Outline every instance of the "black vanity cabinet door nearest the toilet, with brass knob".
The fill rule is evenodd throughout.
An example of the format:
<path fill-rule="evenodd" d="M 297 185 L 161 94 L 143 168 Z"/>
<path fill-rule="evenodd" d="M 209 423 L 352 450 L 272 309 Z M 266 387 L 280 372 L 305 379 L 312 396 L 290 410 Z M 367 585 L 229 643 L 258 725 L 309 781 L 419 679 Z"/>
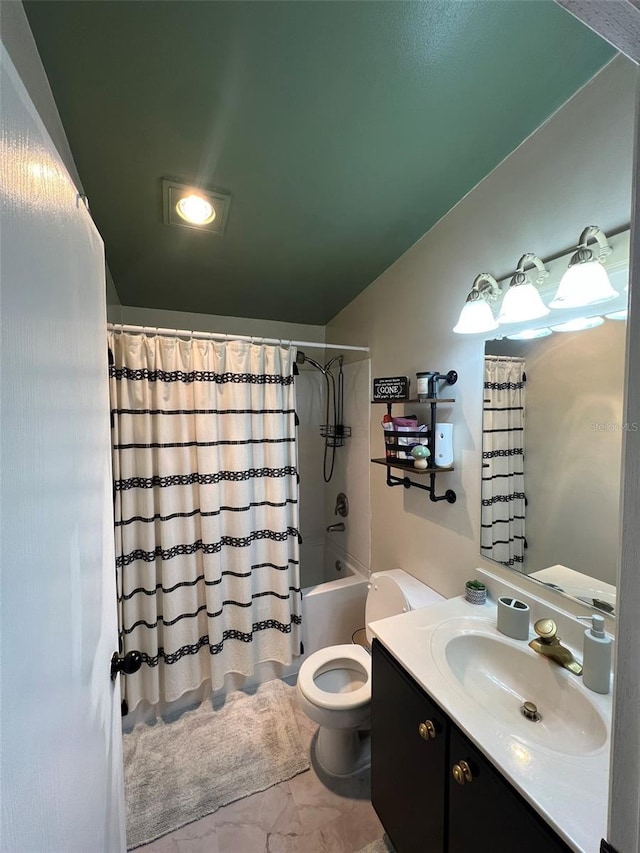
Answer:
<path fill-rule="evenodd" d="M 447 718 L 376 640 L 372 678 L 373 806 L 397 853 L 443 853 Z"/>

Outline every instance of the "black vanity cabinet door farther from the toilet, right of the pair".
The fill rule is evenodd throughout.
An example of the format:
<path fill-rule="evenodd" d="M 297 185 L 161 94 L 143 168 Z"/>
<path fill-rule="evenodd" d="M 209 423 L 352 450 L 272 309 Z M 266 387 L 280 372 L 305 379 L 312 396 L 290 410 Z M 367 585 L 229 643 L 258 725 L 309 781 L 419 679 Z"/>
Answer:
<path fill-rule="evenodd" d="M 570 848 L 453 725 L 449 753 L 448 853 L 566 853 Z M 471 781 L 458 784 L 454 765 L 466 761 Z M 464 778 L 464 777 L 463 777 Z"/>

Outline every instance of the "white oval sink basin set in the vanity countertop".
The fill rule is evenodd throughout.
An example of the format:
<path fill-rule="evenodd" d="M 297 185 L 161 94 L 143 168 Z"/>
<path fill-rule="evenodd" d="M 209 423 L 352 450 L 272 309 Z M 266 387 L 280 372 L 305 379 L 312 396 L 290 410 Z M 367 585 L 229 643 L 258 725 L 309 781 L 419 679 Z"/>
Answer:
<path fill-rule="evenodd" d="M 433 634 L 438 669 L 452 686 L 498 719 L 505 732 L 568 755 L 604 746 L 607 726 L 582 679 L 526 643 L 502 639 L 492 627 L 469 627 L 468 620 L 453 623 L 444 623 Z M 524 702 L 537 706 L 537 722 L 522 713 Z"/>

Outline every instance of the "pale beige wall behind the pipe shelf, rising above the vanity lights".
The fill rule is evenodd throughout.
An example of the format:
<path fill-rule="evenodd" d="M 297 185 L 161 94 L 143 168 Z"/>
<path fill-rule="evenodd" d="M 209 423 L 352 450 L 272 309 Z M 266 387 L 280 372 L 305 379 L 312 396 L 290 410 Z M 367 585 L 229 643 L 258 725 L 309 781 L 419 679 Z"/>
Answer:
<path fill-rule="evenodd" d="M 445 418 L 454 424 L 456 471 L 438 477 L 457 503 L 389 489 L 384 469 L 372 466 L 373 570 L 400 565 L 450 596 L 483 564 L 483 341 L 451 329 L 478 273 L 500 279 L 524 252 L 561 253 L 586 225 L 629 222 L 636 74 L 615 59 L 327 327 L 328 341 L 370 346 L 372 376 L 415 382 L 418 370 L 455 369 L 460 377 Z M 374 418 L 373 456 L 382 455 L 380 433 Z"/>

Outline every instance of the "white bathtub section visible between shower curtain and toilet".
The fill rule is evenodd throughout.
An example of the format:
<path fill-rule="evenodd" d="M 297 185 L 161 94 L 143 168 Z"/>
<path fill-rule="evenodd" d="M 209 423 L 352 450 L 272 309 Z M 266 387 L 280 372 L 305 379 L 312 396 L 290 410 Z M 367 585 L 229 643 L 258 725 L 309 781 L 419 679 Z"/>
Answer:
<path fill-rule="evenodd" d="M 369 572 L 333 542 L 324 546 L 320 583 L 302 590 L 302 642 L 305 656 L 339 643 L 350 643 L 364 628 Z"/>

